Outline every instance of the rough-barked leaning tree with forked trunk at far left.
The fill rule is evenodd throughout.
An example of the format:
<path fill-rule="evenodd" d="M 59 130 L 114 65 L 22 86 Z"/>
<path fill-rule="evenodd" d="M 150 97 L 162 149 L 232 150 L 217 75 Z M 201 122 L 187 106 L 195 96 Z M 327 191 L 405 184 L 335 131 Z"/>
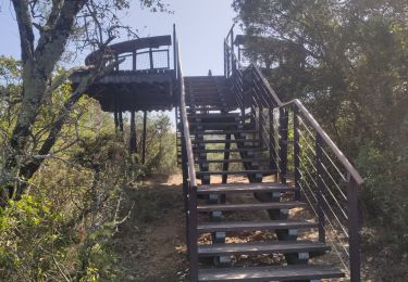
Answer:
<path fill-rule="evenodd" d="M 139 0 L 141 7 L 164 10 L 160 0 Z M 88 48 L 106 50 L 123 30 L 118 13 L 128 9 L 129 0 L 13 0 L 21 41 L 22 82 L 16 120 L 8 132 L 2 161 L 1 198 L 18 198 L 27 181 L 49 155 L 59 133 L 84 90 L 112 65 L 97 60 L 90 67 L 74 67 L 55 73 L 59 62 L 70 51 Z M 70 47 L 70 48 L 69 48 Z M 101 56 L 102 56 L 101 52 Z M 52 107 L 51 98 L 77 72 L 86 72 L 82 81 L 64 100 L 52 123 L 39 130 L 36 125 L 45 108 Z"/>

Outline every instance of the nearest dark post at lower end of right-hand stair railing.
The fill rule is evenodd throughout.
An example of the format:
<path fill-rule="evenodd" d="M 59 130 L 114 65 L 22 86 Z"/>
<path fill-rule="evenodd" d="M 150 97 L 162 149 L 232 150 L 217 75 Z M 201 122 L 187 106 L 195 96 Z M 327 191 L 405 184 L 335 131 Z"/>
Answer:
<path fill-rule="evenodd" d="M 350 281 L 359 282 L 360 278 L 360 233 L 358 223 L 358 208 L 357 208 L 357 190 L 358 184 L 356 180 L 348 175 L 347 185 L 347 210 L 348 210 L 348 244 L 350 254 Z"/>

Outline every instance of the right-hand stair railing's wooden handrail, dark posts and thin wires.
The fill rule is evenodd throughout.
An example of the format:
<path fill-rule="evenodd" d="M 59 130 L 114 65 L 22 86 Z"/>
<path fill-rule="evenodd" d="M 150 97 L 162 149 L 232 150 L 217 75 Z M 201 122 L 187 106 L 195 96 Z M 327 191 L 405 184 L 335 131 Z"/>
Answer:
<path fill-rule="evenodd" d="M 274 153 L 276 154 L 276 157 L 279 157 L 279 163 L 276 162 L 276 166 L 279 167 L 279 174 L 280 174 L 280 180 L 282 183 L 286 182 L 287 177 L 287 144 L 288 144 L 288 121 L 289 121 L 289 113 L 293 112 L 293 145 L 294 145 L 294 172 L 295 172 L 295 185 L 300 185 L 301 171 L 300 171 L 300 165 L 302 163 L 301 155 L 300 155 L 300 130 L 299 130 L 299 120 L 304 125 L 308 125 L 310 127 L 310 130 L 313 131 L 311 133 L 314 136 L 314 142 L 316 142 L 316 175 L 310 176 L 310 180 L 313 181 L 316 191 L 311 191 L 311 195 L 316 198 L 316 209 L 313 207 L 313 204 L 308 200 L 311 208 L 316 211 L 318 218 L 319 218 L 319 241 L 325 242 L 325 219 L 329 219 L 329 216 L 324 211 L 324 206 L 329 206 L 330 211 L 334 215 L 335 219 L 338 219 L 336 216 L 336 213 L 333 210 L 333 208 L 330 206 L 330 203 L 325 195 L 323 194 L 323 190 L 327 188 L 329 192 L 331 193 L 330 196 L 335 200 L 335 202 L 338 204 L 337 200 L 333 195 L 332 191 L 329 189 L 323 174 L 325 170 L 325 166 L 323 164 L 323 154 L 327 156 L 327 153 L 323 149 L 323 145 L 326 146 L 330 152 L 330 154 L 333 154 L 335 158 L 337 159 L 338 164 L 341 164 L 342 170 L 344 169 L 347 176 L 345 177 L 339 168 L 335 166 L 336 171 L 339 172 L 341 178 L 347 179 L 347 192 L 346 192 L 346 205 L 347 207 L 344 208 L 338 204 L 338 207 L 341 208 L 341 211 L 344 214 L 344 210 L 347 210 L 347 225 L 348 230 L 341 223 L 343 233 L 348 239 L 348 246 L 349 252 L 346 249 L 346 254 L 348 256 L 349 260 L 349 273 L 350 273 L 350 280 L 351 281 L 360 281 L 360 243 L 359 243 L 359 222 L 358 222 L 358 188 L 363 183 L 362 177 L 359 175 L 359 172 L 356 170 L 356 168 L 350 164 L 350 162 L 347 159 L 347 157 L 344 155 L 344 153 L 337 148 L 337 145 L 332 141 L 332 139 L 329 137 L 329 134 L 322 129 L 322 127 L 319 125 L 319 123 L 314 119 L 314 117 L 310 114 L 310 112 L 305 107 L 305 105 L 298 100 L 294 99 L 289 102 L 283 103 L 280 98 L 276 95 L 276 93 L 273 91 L 272 87 L 269 85 L 268 80 L 259 69 L 259 67 L 254 63 L 250 62 L 249 66 L 245 69 L 242 68 L 239 65 L 239 62 L 236 60 L 236 56 L 234 54 L 234 47 L 233 47 L 233 35 L 234 31 L 230 30 L 228 36 L 226 40 L 224 41 L 224 54 L 227 56 L 224 59 L 224 65 L 226 66 L 225 75 L 226 77 L 231 77 L 232 79 L 235 79 L 237 76 L 237 70 L 245 73 L 246 77 L 250 77 L 250 80 L 247 80 L 247 89 L 248 94 L 251 95 L 250 104 L 245 104 L 244 107 L 251 108 L 251 115 L 252 118 L 256 120 L 257 126 L 258 123 L 260 126 L 262 126 L 261 116 L 259 116 L 259 120 L 257 120 L 256 116 L 256 108 L 269 108 L 269 114 L 273 113 L 274 110 L 279 110 L 279 134 L 275 141 L 277 141 L 279 145 L 279 152 L 274 150 Z M 230 38 L 228 38 L 230 37 Z M 230 39 L 230 40 L 228 40 Z M 228 41 L 231 41 L 231 46 L 228 46 Z M 247 92 L 245 92 L 247 93 Z M 238 97 L 239 99 L 245 99 L 243 97 Z M 244 110 L 245 111 L 245 110 Z M 252 113 L 254 112 L 254 113 Z M 301 116 L 301 119 L 300 119 Z M 262 117 L 263 118 L 263 117 Z M 270 117 L 271 118 L 271 117 Z M 307 129 L 309 131 L 309 129 Z M 260 129 L 260 132 L 262 131 L 262 128 Z M 264 130 L 263 130 L 264 131 Z M 262 134 L 264 132 L 261 132 Z M 270 137 L 271 138 L 271 137 Z M 271 150 L 271 148 L 270 148 Z M 329 156 L 327 156 L 329 157 Z M 308 156 L 306 158 L 310 162 L 310 164 L 313 164 L 313 161 L 311 161 Z M 275 158 L 276 159 L 276 158 Z M 334 164 L 333 159 L 329 157 L 330 162 Z M 306 171 L 308 172 L 308 171 Z M 332 181 L 335 182 L 333 177 L 327 171 L 329 176 L 332 178 Z M 316 179 L 314 179 L 316 178 Z M 307 184 L 307 182 L 305 182 Z M 335 183 L 336 184 L 336 183 Z M 337 185 L 337 184 L 336 184 Z M 338 188 L 338 185 L 337 185 Z M 301 188 L 302 189 L 302 188 Z M 304 190 L 304 189 L 302 189 Z M 342 195 L 345 194 L 342 192 Z M 300 193 L 295 194 L 296 198 L 300 198 Z M 327 222 L 332 226 L 332 222 L 327 220 Z M 333 227 L 332 227 L 333 228 Z M 343 260 L 342 260 L 343 262 Z"/>

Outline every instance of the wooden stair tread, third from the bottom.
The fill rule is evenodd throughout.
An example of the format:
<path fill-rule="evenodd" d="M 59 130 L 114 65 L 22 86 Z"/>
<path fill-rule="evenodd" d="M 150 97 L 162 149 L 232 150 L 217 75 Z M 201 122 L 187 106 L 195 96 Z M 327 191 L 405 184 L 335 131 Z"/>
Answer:
<path fill-rule="evenodd" d="M 200 233 L 226 231 L 261 231 L 318 228 L 319 223 L 296 220 L 205 222 L 197 226 Z"/>

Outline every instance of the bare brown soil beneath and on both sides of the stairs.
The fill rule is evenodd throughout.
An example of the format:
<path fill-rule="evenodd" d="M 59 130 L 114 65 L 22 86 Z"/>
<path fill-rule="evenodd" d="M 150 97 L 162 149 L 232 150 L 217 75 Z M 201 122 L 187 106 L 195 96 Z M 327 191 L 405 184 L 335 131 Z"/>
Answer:
<path fill-rule="evenodd" d="M 221 178 L 213 178 L 211 182 L 221 182 Z M 247 182 L 247 180 L 244 177 L 234 177 L 231 182 Z M 228 202 L 233 203 L 254 201 L 251 194 L 228 197 Z M 151 180 L 139 183 L 137 188 L 127 188 L 124 213 L 131 208 L 131 218 L 120 227 L 112 243 L 119 256 L 119 281 L 187 281 L 188 265 L 184 244 L 185 220 L 181 175 L 153 176 Z M 238 216 L 225 214 L 225 217 L 234 220 L 267 220 L 269 218 L 264 211 L 243 213 Z M 290 217 L 312 218 L 310 213 L 305 213 L 301 208 L 293 209 Z M 306 240 L 314 240 L 317 236 L 317 232 L 299 234 L 299 238 Z M 274 238 L 273 232 L 246 232 L 230 234 L 227 242 L 265 241 Z M 362 281 L 408 281 L 407 255 L 396 258 L 392 248 L 364 243 L 364 239 L 366 235 L 362 236 Z M 210 243 L 210 236 L 201 235 L 199 241 Z M 233 258 L 232 265 L 270 265 L 283 261 L 282 255 L 240 256 Z M 313 258 L 311 262 L 344 268 L 335 252 Z M 202 264 L 205 267 L 211 266 L 211 261 Z"/>

